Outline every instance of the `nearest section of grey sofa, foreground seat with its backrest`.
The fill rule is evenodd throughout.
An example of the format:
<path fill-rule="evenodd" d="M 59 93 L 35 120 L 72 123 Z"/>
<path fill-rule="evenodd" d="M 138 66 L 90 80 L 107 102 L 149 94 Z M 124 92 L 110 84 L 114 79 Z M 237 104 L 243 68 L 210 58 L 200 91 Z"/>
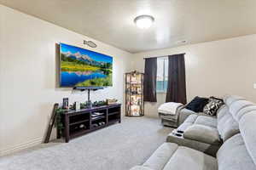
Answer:
<path fill-rule="evenodd" d="M 164 143 L 142 166 L 131 170 L 255 170 L 256 111 L 243 111 L 236 133 L 218 150 L 216 157 L 173 143 Z"/>

